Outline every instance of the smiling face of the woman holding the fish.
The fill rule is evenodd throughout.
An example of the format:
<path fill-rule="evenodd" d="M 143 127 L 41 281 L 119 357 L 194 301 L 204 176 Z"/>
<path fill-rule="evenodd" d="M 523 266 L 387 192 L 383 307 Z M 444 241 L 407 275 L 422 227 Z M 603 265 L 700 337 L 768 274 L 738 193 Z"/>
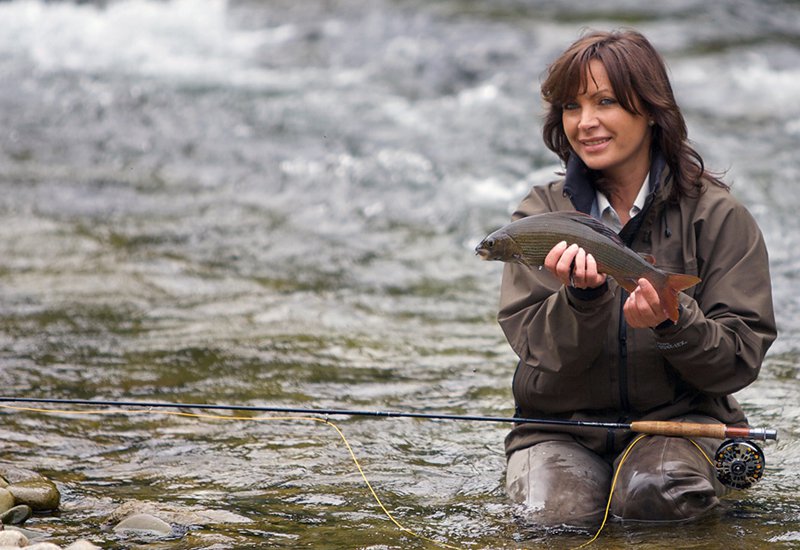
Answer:
<path fill-rule="evenodd" d="M 573 151 L 612 183 L 644 178 L 650 169 L 652 139 L 648 117 L 620 106 L 600 61 L 589 62 L 585 77 L 586 90 L 565 104 L 561 115 Z"/>

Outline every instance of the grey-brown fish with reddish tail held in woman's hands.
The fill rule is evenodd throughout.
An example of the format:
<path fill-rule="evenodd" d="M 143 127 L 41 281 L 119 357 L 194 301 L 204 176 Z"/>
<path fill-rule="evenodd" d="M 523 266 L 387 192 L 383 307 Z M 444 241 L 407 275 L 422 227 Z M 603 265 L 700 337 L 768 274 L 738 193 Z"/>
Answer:
<path fill-rule="evenodd" d="M 539 268 L 561 241 L 586 250 L 597 261 L 597 270 L 628 292 L 636 289 L 639 279 L 650 281 L 672 322 L 678 320 L 678 293 L 701 281 L 694 275 L 659 269 L 655 258 L 632 250 L 600 220 L 577 211 L 546 212 L 513 221 L 489 234 L 475 252 L 483 260 Z"/>

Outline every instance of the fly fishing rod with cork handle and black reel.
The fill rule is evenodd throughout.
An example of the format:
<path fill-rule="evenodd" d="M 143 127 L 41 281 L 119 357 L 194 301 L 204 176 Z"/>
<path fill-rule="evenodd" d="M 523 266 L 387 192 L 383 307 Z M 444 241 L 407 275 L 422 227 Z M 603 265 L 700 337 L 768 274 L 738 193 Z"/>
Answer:
<path fill-rule="evenodd" d="M 216 403 L 176 403 L 169 401 L 121 401 L 100 399 L 55 399 L 35 397 L 3 397 L 0 402 L 40 403 L 50 405 L 86 405 L 108 407 L 144 407 L 150 409 L 205 409 L 258 413 L 291 413 L 316 416 L 367 416 L 379 418 L 418 418 L 425 420 L 451 420 L 468 422 L 496 422 L 514 424 L 536 424 L 573 428 L 599 428 L 628 430 L 645 435 L 671 437 L 708 437 L 725 440 L 715 453 L 717 477 L 722 483 L 736 489 L 746 489 L 761 479 L 764 473 L 764 453 L 748 440 L 777 440 L 778 432 L 769 428 L 728 426 L 722 423 L 702 424 L 695 422 L 673 422 L 666 420 L 639 420 L 634 422 L 600 422 L 593 420 L 565 420 L 551 418 L 518 418 L 502 416 L 459 415 L 418 413 L 402 411 L 374 411 L 357 409 L 324 409 L 304 407 L 271 407 L 256 405 L 223 405 Z"/>

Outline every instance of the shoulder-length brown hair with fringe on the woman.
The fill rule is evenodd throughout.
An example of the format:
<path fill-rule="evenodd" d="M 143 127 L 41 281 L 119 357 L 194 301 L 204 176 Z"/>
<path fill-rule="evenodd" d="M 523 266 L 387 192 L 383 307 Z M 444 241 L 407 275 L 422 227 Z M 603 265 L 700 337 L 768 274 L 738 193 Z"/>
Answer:
<path fill-rule="evenodd" d="M 701 193 L 703 177 L 728 187 L 705 170 L 702 157 L 689 145 L 666 64 L 647 38 L 633 30 L 586 34 L 550 65 L 542 84 L 548 104 L 542 135 L 548 149 L 566 164 L 572 148 L 564 133 L 563 106 L 585 89 L 589 62 L 595 59 L 605 67 L 620 106 L 653 119 L 653 144 L 664 155 L 675 183 L 670 198 Z"/>

